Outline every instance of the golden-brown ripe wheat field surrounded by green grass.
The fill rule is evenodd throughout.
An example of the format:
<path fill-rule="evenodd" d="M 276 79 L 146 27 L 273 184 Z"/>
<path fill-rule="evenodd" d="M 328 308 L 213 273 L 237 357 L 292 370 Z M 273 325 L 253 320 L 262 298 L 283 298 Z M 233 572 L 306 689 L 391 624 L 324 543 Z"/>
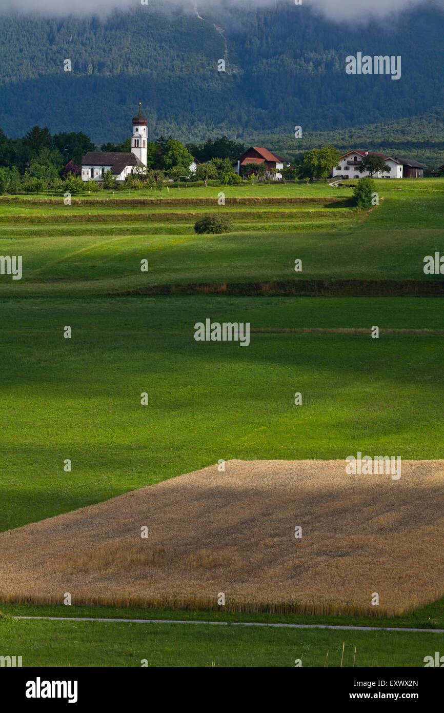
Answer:
<path fill-rule="evenodd" d="M 345 466 L 232 460 L 1 533 L 0 598 L 379 616 L 442 596 L 444 461 Z"/>

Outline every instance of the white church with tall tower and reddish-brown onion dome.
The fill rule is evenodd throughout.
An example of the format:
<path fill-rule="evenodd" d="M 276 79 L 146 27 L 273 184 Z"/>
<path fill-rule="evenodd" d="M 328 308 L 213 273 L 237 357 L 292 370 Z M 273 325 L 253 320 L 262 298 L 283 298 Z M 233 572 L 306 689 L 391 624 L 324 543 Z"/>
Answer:
<path fill-rule="evenodd" d="M 82 158 L 82 180 L 103 180 L 110 171 L 116 180 L 125 180 L 130 173 L 145 173 L 147 167 L 148 127 L 139 102 L 138 116 L 133 118 L 131 152 L 89 151 Z"/>

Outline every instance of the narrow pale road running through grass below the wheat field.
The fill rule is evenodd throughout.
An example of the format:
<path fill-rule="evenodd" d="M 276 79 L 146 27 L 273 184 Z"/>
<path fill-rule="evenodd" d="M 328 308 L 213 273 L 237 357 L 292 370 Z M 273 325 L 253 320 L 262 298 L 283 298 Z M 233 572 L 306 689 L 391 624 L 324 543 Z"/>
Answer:
<path fill-rule="evenodd" d="M 330 624 L 273 624 L 266 622 L 205 622 L 180 619 L 111 619 L 110 617 L 12 617 L 51 622 L 118 622 L 125 624 L 214 624 L 215 626 L 267 626 L 286 629 L 334 629 L 340 631 L 406 631 L 423 634 L 444 634 L 444 629 L 408 629 L 403 627 L 336 626 Z"/>

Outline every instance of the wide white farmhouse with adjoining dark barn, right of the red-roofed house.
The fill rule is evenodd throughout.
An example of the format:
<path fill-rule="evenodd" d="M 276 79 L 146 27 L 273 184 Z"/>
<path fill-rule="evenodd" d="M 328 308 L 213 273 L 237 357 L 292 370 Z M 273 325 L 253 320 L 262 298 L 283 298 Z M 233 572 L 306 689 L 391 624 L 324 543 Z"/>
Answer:
<path fill-rule="evenodd" d="M 361 161 L 368 155 L 379 156 L 390 167 L 390 170 L 378 171 L 373 178 L 423 178 L 424 168 L 421 163 L 407 158 L 394 158 L 383 153 L 373 151 L 353 150 L 345 153 L 339 159 L 338 165 L 333 169 L 333 178 L 365 178 L 368 171 L 360 172 Z"/>

